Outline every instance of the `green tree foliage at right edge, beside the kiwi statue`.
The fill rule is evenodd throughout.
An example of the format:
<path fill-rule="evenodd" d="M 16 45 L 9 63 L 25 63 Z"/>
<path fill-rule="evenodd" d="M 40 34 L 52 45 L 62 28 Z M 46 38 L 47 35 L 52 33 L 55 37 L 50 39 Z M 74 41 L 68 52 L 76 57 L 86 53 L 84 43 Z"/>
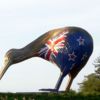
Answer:
<path fill-rule="evenodd" d="M 100 93 L 100 57 L 95 60 L 95 72 L 85 76 L 82 83 L 79 83 L 79 91 L 82 93 Z"/>

